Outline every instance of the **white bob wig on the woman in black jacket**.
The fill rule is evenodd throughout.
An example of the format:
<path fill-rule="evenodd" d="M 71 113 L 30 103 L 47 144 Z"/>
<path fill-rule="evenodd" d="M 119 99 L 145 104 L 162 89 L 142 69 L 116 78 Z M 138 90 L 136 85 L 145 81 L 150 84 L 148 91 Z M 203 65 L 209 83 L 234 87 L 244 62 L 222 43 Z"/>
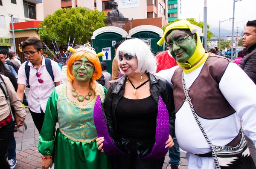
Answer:
<path fill-rule="evenodd" d="M 155 73 L 157 70 L 157 61 L 151 49 L 146 43 L 138 38 L 132 38 L 125 40 L 116 50 L 117 60 L 119 62 L 119 52 L 123 54 L 129 54 L 136 57 L 138 60 L 138 69 L 135 73 Z M 125 74 L 122 69 L 120 69 L 122 74 Z"/>

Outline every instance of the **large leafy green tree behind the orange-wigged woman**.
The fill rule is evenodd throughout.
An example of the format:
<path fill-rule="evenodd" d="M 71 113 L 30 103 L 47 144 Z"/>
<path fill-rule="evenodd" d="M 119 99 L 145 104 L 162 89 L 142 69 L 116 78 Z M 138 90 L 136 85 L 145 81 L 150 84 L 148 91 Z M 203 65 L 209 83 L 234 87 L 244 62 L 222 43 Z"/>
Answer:
<path fill-rule="evenodd" d="M 96 29 L 106 26 L 105 18 L 107 18 L 107 15 L 104 11 L 87 11 L 81 7 L 58 9 L 54 14 L 44 18 L 44 22 L 40 23 L 39 26 L 42 29 L 39 34 L 43 31 L 50 34 L 55 33 L 59 36 L 62 45 L 67 45 L 69 35 L 71 40 L 76 38 L 76 44 L 84 44 L 91 41 Z M 70 41 L 70 43 L 72 42 Z"/>

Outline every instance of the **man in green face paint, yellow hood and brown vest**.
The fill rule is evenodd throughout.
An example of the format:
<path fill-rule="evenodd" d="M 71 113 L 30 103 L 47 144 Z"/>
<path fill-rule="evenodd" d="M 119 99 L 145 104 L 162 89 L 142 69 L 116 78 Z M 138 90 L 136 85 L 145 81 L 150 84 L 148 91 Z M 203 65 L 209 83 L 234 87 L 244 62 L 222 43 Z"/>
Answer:
<path fill-rule="evenodd" d="M 158 45 L 162 46 L 163 41 L 179 66 L 157 75 L 173 85 L 175 135 L 186 151 L 188 168 L 215 169 L 219 165 L 221 169 L 256 169 L 239 124 L 239 118 L 244 120 L 244 132 L 255 145 L 253 81 L 236 63 L 205 52 L 197 30 L 187 20 L 167 26 Z M 236 146 L 238 152 L 230 148 Z M 216 149 L 223 151 L 218 151 L 222 154 L 217 155 L 218 159 Z"/>

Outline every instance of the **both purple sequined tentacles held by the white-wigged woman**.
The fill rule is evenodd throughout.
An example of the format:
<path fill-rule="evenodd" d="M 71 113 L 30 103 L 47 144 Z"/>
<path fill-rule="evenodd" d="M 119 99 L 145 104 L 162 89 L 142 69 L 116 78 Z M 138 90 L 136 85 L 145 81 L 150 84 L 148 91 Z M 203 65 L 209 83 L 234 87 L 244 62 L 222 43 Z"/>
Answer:
<path fill-rule="evenodd" d="M 103 149 L 106 155 L 126 155 L 120 151 L 111 139 L 108 128 L 105 122 L 105 118 L 102 113 L 102 106 L 100 97 L 97 97 L 94 111 L 94 124 L 98 133 L 98 137 L 104 137 Z M 159 97 L 158 101 L 158 114 L 157 114 L 157 128 L 155 135 L 154 147 L 150 155 L 141 159 L 162 159 L 168 152 L 168 148 L 165 148 L 166 141 L 169 138 L 169 113 L 162 98 Z"/>

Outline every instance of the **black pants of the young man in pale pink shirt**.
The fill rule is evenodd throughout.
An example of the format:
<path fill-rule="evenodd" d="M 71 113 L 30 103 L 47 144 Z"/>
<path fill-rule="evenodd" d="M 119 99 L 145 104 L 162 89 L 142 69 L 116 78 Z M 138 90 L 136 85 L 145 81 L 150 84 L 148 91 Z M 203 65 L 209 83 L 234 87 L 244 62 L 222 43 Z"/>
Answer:
<path fill-rule="evenodd" d="M 41 111 L 41 113 L 35 113 L 35 112 L 32 112 L 30 109 L 29 109 L 29 112 L 32 116 L 32 119 L 35 123 L 35 127 L 38 129 L 38 132 L 40 134 L 42 128 L 43 128 L 43 123 L 44 123 L 44 112 L 43 110 Z M 54 135 L 55 137 L 55 135 Z M 52 152 L 52 162 L 54 163 L 54 152 L 55 152 L 55 146 L 53 148 L 53 152 Z"/>

